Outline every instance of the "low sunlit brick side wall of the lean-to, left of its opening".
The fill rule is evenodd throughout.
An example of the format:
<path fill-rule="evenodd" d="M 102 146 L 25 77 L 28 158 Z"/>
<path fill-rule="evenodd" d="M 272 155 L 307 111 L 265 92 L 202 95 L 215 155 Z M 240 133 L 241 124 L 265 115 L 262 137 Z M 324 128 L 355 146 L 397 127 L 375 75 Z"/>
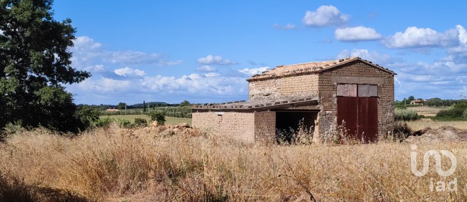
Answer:
<path fill-rule="evenodd" d="M 212 130 L 244 143 L 254 142 L 253 112 L 193 111 L 192 117 L 195 128 Z"/>

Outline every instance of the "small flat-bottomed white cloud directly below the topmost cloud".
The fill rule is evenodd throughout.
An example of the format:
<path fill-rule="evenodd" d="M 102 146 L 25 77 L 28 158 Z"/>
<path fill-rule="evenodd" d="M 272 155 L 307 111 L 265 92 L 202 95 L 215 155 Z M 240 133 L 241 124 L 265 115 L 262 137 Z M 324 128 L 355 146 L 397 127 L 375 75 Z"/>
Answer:
<path fill-rule="evenodd" d="M 334 36 L 340 41 L 377 40 L 381 38 L 381 35 L 375 29 L 363 26 L 338 28 L 334 32 Z"/>

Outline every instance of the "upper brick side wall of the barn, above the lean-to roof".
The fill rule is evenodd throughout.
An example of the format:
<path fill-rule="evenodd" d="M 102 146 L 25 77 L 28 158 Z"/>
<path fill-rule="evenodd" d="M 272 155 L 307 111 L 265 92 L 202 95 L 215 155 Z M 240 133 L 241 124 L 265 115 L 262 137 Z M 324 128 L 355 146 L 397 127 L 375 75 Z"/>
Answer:
<path fill-rule="evenodd" d="M 318 74 L 305 74 L 249 82 L 248 99 L 275 99 L 317 94 Z"/>

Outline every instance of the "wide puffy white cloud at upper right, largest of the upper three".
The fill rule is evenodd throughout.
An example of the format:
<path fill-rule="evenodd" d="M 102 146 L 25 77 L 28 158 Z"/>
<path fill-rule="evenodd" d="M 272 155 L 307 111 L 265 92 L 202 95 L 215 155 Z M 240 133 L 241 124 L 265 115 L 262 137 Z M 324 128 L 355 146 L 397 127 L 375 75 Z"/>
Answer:
<path fill-rule="evenodd" d="M 408 27 L 403 33 L 396 32 L 383 40 L 387 48 L 419 48 L 453 46 L 457 43 L 458 31 L 449 29 L 438 33 L 430 28 Z"/>

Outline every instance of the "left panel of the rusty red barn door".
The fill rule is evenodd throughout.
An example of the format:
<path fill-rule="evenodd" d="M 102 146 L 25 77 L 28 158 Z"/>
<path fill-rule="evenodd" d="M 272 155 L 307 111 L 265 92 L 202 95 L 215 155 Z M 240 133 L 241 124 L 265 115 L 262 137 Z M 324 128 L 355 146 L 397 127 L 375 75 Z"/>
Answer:
<path fill-rule="evenodd" d="M 339 126 L 345 122 L 345 129 L 350 137 L 358 134 L 358 98 L 359 97 L 337 97 L 337 123 Z"/>

